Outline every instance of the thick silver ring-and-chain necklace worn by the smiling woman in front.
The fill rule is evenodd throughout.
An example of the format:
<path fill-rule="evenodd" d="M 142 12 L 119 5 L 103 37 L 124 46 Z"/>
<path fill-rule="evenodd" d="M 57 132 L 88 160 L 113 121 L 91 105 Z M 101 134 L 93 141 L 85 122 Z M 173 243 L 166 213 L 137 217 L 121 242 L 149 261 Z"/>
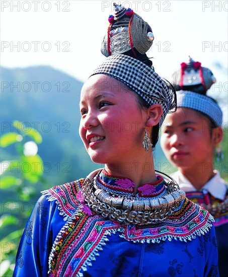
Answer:
<path fill-rule="evenodd" d="M 161 173 L 161 172 L 159 172 Z M 99 188 L 96 176 L 87 178 L 82 191 L 90 209 L 104 218 L 122 224 L 153 224 L 171 216 L 186 194 L 174 180 L 166 183 L 167 192 L 162 197 L 111 196 Z"/>

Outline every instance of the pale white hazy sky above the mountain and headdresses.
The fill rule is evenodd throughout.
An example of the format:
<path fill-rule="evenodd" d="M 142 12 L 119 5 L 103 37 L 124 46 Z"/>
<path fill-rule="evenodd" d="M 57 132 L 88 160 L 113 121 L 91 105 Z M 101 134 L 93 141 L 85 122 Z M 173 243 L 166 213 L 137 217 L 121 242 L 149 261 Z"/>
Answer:
<path fill-rule="evenodd" d="M 228 1 L 116 3 L 133 9 L 152 27 L 155 40 L 148 56 L 154 57 L 162 77 L 169 79 L 191 55 L 225 82 Z M 113 1 L 1 0 L 1 65 L 46 64 L 85 81 L 105 58 L 101 41 L 113 13 Z"/>

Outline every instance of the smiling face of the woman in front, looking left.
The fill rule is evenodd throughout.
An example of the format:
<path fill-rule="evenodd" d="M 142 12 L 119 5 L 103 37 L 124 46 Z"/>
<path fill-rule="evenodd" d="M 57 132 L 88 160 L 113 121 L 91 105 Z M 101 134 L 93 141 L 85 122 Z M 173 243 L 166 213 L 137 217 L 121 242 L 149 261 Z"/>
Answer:
<path fill-rule="evenodd" d="M 120 81 L 94 75 L 85 83 L 80 101 L 80 136 L 92 161 L 132 161 L 142 147 L 146 112 Z"/>

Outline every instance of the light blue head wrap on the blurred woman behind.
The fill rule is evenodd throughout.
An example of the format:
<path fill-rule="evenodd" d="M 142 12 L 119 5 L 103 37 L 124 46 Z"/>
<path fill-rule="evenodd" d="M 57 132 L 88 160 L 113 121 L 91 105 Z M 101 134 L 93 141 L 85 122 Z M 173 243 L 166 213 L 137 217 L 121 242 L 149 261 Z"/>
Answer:
<path fill-rule="evenodd" d="M 218 104 L 210 97 L 192 91 L 177 92 L 177 107 L 191 108 L 200 111 L 214 122 L 215 126 L 222 124 L 222 111 Z"/>

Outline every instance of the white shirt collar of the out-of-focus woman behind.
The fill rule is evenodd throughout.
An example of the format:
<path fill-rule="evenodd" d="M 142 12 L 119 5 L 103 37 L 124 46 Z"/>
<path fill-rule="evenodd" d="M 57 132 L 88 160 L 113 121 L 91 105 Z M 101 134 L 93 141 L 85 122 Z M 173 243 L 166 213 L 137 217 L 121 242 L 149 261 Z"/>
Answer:
<path fill-rule="evenodd" d="M 221 179 L 218 171 L 214 171 L 215 176 L 212 177 L 200 191 L 208 191 L 212 196 L 223 200 L 227 191 L 227 184 Z M 186 192 L 197 191 L 197 189 L 190 183 L 190 181 L 180 172 L 177 171 L 172 174 L 172 177 L 177 181 L 180 188 Z"/>

